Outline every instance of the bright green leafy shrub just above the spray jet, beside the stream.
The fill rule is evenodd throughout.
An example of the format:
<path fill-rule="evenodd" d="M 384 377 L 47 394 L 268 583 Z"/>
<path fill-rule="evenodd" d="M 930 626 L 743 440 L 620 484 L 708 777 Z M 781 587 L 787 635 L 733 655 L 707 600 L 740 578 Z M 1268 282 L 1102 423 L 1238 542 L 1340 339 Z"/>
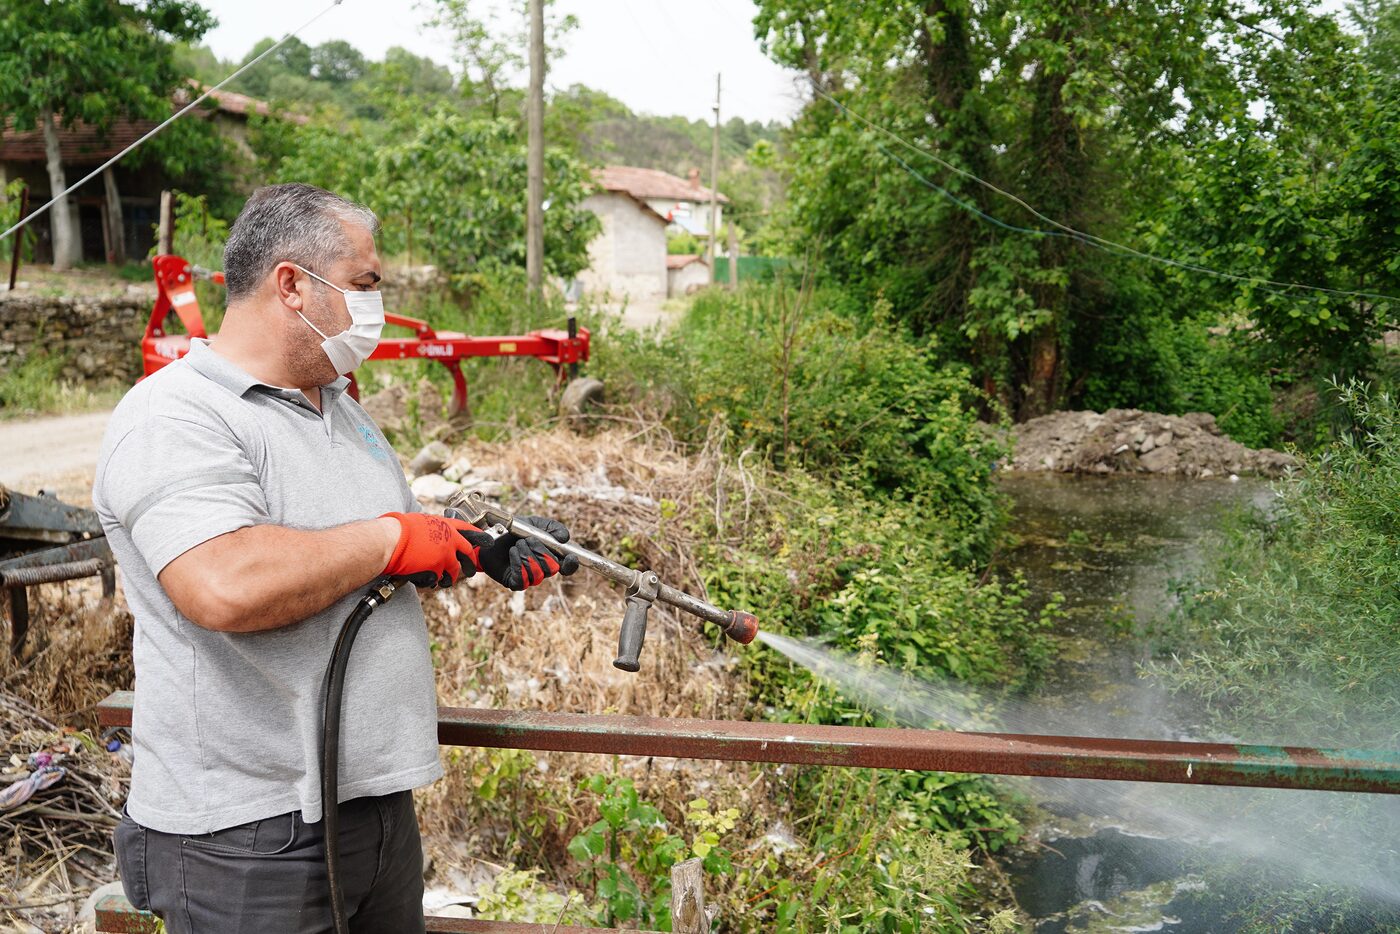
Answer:
<path fill-rule="evenodd" d="M 777 485 L 770 511 L 750 515 L 738 541 L 734 525 L 699 529 L 714 542 L 699 566 L 721 602 L 916 676 L 1019 685 L 1049 661 L 1058 604 L 1030 615 L 1022 581 L 952 564 L 920 500 L 881 500 L 801 471 L 766 482 Z"/>

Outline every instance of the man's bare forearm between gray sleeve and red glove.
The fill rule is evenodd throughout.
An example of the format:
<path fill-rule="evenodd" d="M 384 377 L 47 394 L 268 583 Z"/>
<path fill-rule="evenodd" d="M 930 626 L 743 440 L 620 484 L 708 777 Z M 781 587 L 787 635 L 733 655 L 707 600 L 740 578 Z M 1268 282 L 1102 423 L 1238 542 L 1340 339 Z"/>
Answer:
<path fill-rule="evenodd" d="M 279 629 L 378 577 L 398 536 L 392 518 L 319 531 L 253 525 L 181 555 L 160 580 L 199 626 L 235 633 Z"/>

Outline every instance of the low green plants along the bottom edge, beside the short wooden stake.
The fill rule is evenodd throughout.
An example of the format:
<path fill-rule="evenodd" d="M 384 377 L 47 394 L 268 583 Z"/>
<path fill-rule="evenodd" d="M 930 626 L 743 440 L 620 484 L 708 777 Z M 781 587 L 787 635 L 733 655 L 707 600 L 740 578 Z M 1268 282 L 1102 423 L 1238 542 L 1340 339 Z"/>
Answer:
<path fill-rule="evenodd" d="M 637 795 L 629 779 L 591 776 L 580 791 L 599 819 L 568 844 L 584 867 L 599 924 L 640 923 L 671 930 L 671 867 L 699 857 L 707 900 L 720 907 L 727 930 L 798 931 L 967 931 L 1014 930 L 1011 912 L 991 919 L 976 910 L 966 843 L 928 833 L 897 797 L 897 781 L 869 770 L 819 770 L 799 781 L 815 802 L 805 846 L 784 833 L 759 836 L 736 860 L 725 849 L 741 819 L 736 808 L 704 798 L 689 802 L 689 843 L 672 832 L 661 808 Z M 844 802 L 847 807 L 839 807 Z M 759 885 L 773 879 L 766 888 Z M 559 899 L 559 896 L 553 896 Z M 557 905 L 557 902 L 552 902 Z M 557 910 L 557 909 L 556 909 Z M 532 920 L 540 920 L 536 912 Z M 543 919 L 553 920 L 553 919 Z"/>

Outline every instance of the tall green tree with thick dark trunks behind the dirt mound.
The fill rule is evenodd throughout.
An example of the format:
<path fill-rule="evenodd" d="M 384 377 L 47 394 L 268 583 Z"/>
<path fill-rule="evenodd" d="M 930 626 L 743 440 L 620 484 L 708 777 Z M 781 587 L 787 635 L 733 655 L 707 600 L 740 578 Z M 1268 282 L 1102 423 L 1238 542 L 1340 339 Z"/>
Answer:
<path fill-rule="evenodd" d="M 1103 322 L 1156 311 L 1142 302 L 1254 308 L 1256 293 L 1106 255 L 1061 224 L 1267 272 L 1208 249 L 1228 237 L 1219 227 L 1182 237 L 1158 224 L 1194 207 L 1177 182 L 1198 181 L 1198 147 L 1222 139 L 1270 141 L 1324 168 L 1344 148 L 1338 116 L 1354 99 L 1348 41 L 1305 0 L 763 0 L 755 22 L 769 53 L 819 91 L 791 140 L 795 239 L 918 330 L 942 333 L 1018 417 L 1082 392 Z M 1295 259 L 1280 251 L 1278 267 Z M 1282 315 L 1294 311 L 1306 314 Z"/>

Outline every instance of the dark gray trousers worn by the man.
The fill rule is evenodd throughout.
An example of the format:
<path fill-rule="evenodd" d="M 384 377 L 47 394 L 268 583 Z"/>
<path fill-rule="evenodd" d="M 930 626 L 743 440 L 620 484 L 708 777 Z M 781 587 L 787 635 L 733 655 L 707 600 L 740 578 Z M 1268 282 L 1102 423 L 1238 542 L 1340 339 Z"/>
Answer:
<path fill-rule="evenodd" d="M 122 816 L 127 900 L 169 934 L 328 934 L 322 822 L 283 814 L 213 833 L 160 833 Z M 340 875 L 356 934 L 423 931 L 423 844 L 413 793 L 340 805 Z"/>

